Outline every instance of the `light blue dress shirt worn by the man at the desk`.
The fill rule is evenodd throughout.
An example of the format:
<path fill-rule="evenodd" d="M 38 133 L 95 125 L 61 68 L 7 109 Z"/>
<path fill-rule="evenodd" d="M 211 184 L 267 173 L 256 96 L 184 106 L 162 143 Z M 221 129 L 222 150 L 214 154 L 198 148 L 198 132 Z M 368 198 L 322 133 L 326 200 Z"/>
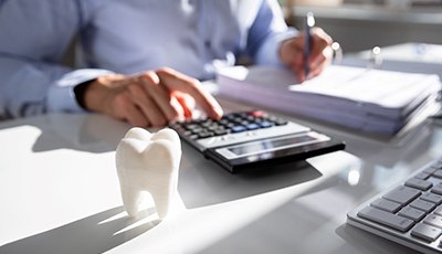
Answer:
<path fill-rule="evenodd" d="M 81 112 L 73 87 L 107 73 L 281 65 L 295 34 L 275 0 L 0 0 L 0 119 Z M 74 38 L 72 68 L 61 60 Z"/>

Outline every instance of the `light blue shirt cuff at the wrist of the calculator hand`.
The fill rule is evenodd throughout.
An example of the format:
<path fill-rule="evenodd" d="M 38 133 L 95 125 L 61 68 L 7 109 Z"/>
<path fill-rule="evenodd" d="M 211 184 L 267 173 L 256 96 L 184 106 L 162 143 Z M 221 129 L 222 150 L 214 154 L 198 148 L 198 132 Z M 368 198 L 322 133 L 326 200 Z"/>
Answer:
<path fill-rule="evenodd" d="M 113 74 L 113 72 L 107 70 L 83 68 L 63 75 L 59 81 L 55 81 L 49 89 L 48 112 L 86 112 L 78 105 L 75 98 L 74 87 L 107 74 Z"/>

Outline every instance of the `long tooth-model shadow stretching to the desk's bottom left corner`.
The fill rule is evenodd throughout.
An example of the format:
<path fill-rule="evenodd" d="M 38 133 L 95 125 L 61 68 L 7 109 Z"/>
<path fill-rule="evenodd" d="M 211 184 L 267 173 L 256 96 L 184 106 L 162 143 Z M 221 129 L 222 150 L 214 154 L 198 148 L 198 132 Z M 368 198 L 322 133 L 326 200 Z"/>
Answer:
<path fill-rule="evenodd" d="M 136 219 L 123 215 L 115 220 L 108 220 L 118 216 L 120 213 L 125 213 L 123 207 L 109 209 L 63 226 L 8 243 L 0 246 L 0 253 L 103 253 L 149 231 L 159 223 L 158 220 L 154 220 L 125 230 L 148 218 L 155 211 L 144 211 Z"/>

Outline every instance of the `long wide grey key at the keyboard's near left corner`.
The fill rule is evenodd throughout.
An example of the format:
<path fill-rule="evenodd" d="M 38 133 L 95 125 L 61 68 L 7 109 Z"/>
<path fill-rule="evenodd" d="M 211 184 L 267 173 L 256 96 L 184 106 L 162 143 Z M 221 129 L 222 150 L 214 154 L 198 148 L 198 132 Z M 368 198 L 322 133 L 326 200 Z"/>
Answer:
<path fill-rule="evenodd" d="M 410 219 L 394 215 L 392 213 L 376 209 L 376 208 L 370 208 L 367 207 L 358 212 L 358 216 L 375 221 L 377 223 L 380 223 L 382 225 L 387 225 L 390 227 L 393 227 L 396 230 L 399 230 L 401 232 L 406 232 L 410 230 L 411 226 L 414 225 L 414 222 Z"/>

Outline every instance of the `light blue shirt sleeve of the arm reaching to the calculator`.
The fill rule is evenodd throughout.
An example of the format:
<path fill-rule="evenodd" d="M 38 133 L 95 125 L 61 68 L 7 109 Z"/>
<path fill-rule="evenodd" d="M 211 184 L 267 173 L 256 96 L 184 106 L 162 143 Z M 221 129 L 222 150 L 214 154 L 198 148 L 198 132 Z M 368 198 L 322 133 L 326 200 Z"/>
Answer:
<path fill-rule="evenodd" d="M 84 110 L 73 87 L 108 71 L 60 64 L 81 20 L 78 1 L 0 2 L 0 119 Z"/>

